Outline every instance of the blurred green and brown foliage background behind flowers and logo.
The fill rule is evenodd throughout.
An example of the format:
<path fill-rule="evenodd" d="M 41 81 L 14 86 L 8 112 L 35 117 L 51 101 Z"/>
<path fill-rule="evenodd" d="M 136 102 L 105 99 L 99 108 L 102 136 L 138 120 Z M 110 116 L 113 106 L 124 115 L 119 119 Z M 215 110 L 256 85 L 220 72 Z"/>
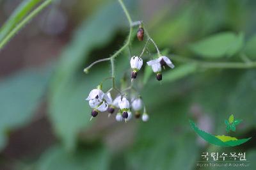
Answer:
<path fill-rule="evenodd" d="M 209 65 L 256 61 L 256 1 L 124 3 L 176 66 L 164 71 L 162 85 L 147 69 L 143 80 L 141 71 L 150 120 L 118 123 L 102 113 L 89 121 L 84 98 L 109 77 L 110 67 L 100 63 L 88 74 L 83 68 L 118 50 L 129 24 L 117 1 L 56 1 L 0 51 L 0 169 L 214 169 L 196 166 L 206 151 L 245 151 L 251 166 L 243 169 L 256 169 L 256 66 Z M 19 4 L 0 1 L 0 26 Z M 132 55 L 143 45 L 134 39 Z M 116 59 L 116 80 L 127 70 L 124 52 Z M 213 146 L 188 121 L 225 134 L 230 114 L 243 120 L 231 135 L 252 137 L 248 143 Z"/>

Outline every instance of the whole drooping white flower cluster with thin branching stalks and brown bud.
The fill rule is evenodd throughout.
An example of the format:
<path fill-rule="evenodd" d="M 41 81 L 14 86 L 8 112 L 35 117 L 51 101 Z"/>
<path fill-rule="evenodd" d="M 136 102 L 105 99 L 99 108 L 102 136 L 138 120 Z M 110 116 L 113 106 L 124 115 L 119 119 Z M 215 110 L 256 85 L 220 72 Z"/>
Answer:
<path fill-rule="evenodd" d="M 156 43 L 152 38 L 148 35 L 146 29 L 143 28 L 142 22 L 136 22 L 140 24 L 140 27 L 137 32 L 137 38 L 141 42 L 144 39 L 144 34 L 147 36 L 147 42 L 145 43 L 145 47 L 143 48 L 140 56 L 132 56 L 130 60 L 131 65 L 131 84 L 128 84 L 126 80 L 126 73 L 124 74 L 124 79 L 121 82 L 121 89 L 116 88 L 115 83 L 115 58 L 118 56 L 118 52 L 116 52 L 113 56 L 106 59 L 100 59 L 99 61 L 95 61 L 88 67 L 84 68 L 84 72 L 88 73 L 88 70 L 101 61 L 110 61 L 111 63 L 111 77 L 106 79 L 112 79 L 113 86 L 107 93 L 102 91 L 102 83 L 97 87 L 97 89 L 93 89 L 86 100 L 88 100 L 90 107 L 92 108 L 92 118 L 96 117 L 99 112 L 109 112 L 109 116 L 116 113 L 115 119 L 116 121 L 129 121 L 132 118 L 132 114 L 134 114 L 135 118 L 141 118 L 143 121 L 148 121 L 149 117 L 146 111 L 145 104 L 140 97 L 140 81 L 138 81 L 138 86 L 132 82 L 134 79 L 138 77 L 138 72 L 141 70 L 143 66 L 143 59 L 141 56 L 143 53 L 148 50 L 148 42 L 152 42 L 157 50 L 157 58 L 147 61 L 147 65 L 152 67 L 154 73 L 156 73 L 156 79 L 158 81 L 162 80 L 162 68 L 165 66 L 169 66 L 170 68 L 174 68 L 172 61 L 166 57 L 162 56 L 159 51 Z M 130 51 L 131 52 L 131 51 Z M 106 80 L 105 79 L 105 80 Z M 118 95 L 113 100 L 111 97 L 111 91 L 115 90 Z M 129 93 L 128 93 L 129 92 Z M 134 93 L 133 93 L 134 92 Z M 132 95 L 136 94 L 136 97 L 132 97 Z M 142 113 L 142 114 L 141 114 Z"/>

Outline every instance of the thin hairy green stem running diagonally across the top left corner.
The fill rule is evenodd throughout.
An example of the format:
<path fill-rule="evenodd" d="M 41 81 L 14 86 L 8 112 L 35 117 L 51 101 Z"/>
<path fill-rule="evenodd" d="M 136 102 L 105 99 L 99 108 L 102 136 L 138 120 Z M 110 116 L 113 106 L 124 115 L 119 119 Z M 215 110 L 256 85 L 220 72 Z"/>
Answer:
<path fill-rule="evenodd" d="M 0 42 L 0 49 L 3 49 L 4 45 L 10 41 L 10 39 L 22 29 L 31 19 L 33 19 L 38 13 L 40 13 L 42 10 L 44 10 L 45 7 L 47 7 L 49 4 L 52 3 L 52 0 L 46 0 L 44 3 L 40 4 L 33 12 L 29 13 L 27 17 L 25 17 L 17 26 L 15 26 L 6 37 L 3 38 L 3 40 Z"/>

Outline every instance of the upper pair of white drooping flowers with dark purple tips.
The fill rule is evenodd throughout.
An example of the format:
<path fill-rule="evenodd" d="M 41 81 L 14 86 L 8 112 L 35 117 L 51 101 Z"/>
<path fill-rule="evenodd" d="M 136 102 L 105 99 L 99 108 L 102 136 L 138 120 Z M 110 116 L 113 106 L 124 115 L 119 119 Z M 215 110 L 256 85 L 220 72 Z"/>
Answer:
<path fill-rule="evenodd" d="M 136 79 L 138 71 L 143 65 L 143 60 L 138 58 L 138 56 L 133 56 L 130 63 L 132 68 L 131 78 Z M 152 67 L 153 72 L 156 73 L 156 79 L 158 81 L 162 80 L 162 67 L 169 66 L 170 68 L 174 68 L 172 61 L 166 56 L 159 56 L 157 59 L 152 59 L 147 62 L 147 65 Z"/>

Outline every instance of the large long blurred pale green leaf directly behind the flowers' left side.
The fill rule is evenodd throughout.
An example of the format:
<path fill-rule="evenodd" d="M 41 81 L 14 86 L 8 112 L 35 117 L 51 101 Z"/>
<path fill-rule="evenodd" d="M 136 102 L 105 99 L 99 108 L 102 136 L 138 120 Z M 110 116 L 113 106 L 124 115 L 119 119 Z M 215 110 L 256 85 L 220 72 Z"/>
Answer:
<path fill-rule="evenodd" d="M 84 74 L 85 61 L 94 48 L 103 47 L 112 40 L 120 27 L 127 26 L 122 13 L 116 1 L 100 8 L 95 15 L 84 21 L 61 54 L 49 93 L 49 116 L 67 150 L 74 150 L 77 134 L 90 125 L 91 109 L 84 98 L 99 85 L 97 83 L 109 77 L 106 72 L 108 68 L 102 66 L 102 63 L 95 65 L 88 75 Z"/>

